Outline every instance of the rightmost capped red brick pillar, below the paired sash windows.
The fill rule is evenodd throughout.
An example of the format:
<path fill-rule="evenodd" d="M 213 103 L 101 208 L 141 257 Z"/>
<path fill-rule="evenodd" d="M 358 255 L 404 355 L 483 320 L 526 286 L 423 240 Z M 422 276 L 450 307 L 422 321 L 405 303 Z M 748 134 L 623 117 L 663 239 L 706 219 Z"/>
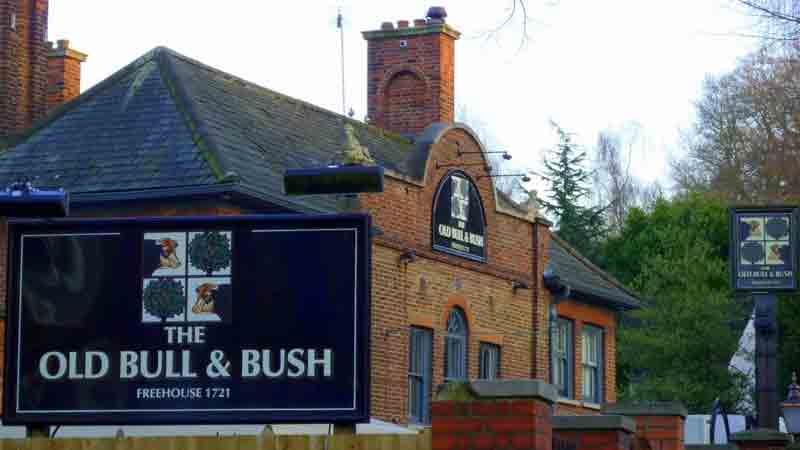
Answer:
<path fill-rule="evenodd" d="M 613 403 L 605 405 L 603 413 L 633 419 L 636 439 L 647 443 L 652 450 L 684 450 L 687 411 L 678 402 Z"/>

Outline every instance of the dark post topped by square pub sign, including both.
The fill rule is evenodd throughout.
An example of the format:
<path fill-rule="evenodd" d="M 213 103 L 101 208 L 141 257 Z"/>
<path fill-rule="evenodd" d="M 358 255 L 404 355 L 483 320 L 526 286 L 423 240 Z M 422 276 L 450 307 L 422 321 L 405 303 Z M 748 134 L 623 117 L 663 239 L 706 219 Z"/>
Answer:
<path fill-rule="evenodd" d="M 756 408 L 760 428 L 778 429 L 776 292 L 797 289 L 797 208 L 740 207 L 730 212 L 731 284 L 753 296 Z"/>

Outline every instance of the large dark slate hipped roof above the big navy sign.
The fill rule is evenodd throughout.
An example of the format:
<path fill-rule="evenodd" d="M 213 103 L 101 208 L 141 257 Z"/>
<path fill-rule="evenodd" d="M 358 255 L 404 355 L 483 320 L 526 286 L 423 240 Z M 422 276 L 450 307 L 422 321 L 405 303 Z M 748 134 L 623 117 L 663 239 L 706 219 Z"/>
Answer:
<path fill-rule="evenodd" d="M 330 196 L 285 196 L 283 172 L 334 161 L 348 122 L 378 164 L 418 172 L 408 170 L 416 146 L 405 137 L 160 47 L 0 152 L 0 186 L 33 176 L 73 198 L 225 186 L 291 210 L 330 212 Z"/>

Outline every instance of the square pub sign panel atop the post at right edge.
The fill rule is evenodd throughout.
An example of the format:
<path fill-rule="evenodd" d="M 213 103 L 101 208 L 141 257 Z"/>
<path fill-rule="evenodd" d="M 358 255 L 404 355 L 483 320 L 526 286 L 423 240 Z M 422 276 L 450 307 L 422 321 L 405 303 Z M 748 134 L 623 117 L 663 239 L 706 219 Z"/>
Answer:
<path fill-rule="evenodd" d="M 741 291 L 797 288 L 797 209 L 731 208 L 731 279 Z"/>

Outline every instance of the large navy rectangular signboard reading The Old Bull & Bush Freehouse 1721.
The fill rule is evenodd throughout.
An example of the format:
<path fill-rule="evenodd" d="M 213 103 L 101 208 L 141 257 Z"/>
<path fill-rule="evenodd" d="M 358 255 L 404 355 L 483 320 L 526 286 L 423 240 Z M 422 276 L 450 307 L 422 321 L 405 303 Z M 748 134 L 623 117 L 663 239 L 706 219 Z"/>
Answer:
<path fill-rule="evenodd" d="M 5 424 L 369 420 L 369 217 L 13 221 Z"/>

